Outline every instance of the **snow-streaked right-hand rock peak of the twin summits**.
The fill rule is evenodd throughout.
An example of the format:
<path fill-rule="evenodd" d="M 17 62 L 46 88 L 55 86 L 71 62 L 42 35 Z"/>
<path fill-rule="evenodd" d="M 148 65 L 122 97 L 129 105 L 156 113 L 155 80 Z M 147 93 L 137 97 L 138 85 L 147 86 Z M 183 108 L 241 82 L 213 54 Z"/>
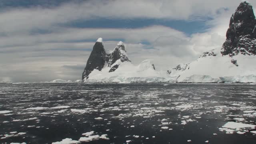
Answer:
<path fill-rule="evenodd" d="M 117 60 L 121 62 L 131 62 L 126 54 L 126 50 L 124 48 L 124 44 L 122 42 L 119 42 L 116 46 L 116 48 L 113 50 L 113 52 L 108 57 L 108 67 L 111 67 L 112 64 L 114 64 Z M 109 70 L 109 72 L 114 72 L 118 68 L 119 64 L 116 64 L 112 66 Z"/>

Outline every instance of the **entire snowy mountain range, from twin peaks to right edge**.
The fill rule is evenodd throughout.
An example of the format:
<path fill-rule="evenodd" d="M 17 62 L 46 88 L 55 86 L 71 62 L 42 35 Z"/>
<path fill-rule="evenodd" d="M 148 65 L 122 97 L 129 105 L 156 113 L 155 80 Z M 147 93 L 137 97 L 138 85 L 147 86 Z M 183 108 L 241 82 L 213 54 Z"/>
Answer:
<path fill-rule="evenodd" d="M 157 71 L 150 60 L 134 66 L 119 42 L 106 54 L 102 38 L 93 47 L 82 82 L 256 82 L 256 20 L 252 6 L 241 2 L 230 18 L 222 48 L 196 61 Z"/>

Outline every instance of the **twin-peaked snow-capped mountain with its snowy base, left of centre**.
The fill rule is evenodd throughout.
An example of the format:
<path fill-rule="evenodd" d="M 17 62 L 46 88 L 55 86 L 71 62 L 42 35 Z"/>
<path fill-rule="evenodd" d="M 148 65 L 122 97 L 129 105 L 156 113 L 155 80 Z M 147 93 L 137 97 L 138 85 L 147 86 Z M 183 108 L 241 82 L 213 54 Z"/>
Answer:
<path fill-rule="evenodd" d="M 102 38 L 101 45 L 103 46 Z M 97 40 L 96 44 L 99 40 Z M 95 44 L 95 45 L 96 45 Z M 138 66 L 132 64 L 123 42 L 118 42 L 110 54 L 100 47 L 99 56 L 95 56 L 95 47 L 84 69 L 82 82 L 166 82 L 167 74 L 158 72 L 151 60 L 144 60 Z M 102 49 L 103 48 L 103 49 Z M 92 58 L 100 58 L 98 65 L 92 65 Z M 102 60 L 104 62 L 102 62 Z M 103 64 L 104 63 L 104 64 Z M 93 70 L 92 70 L 93 69 Z M 89 74 L 87 75 L 88 72 Z"/>

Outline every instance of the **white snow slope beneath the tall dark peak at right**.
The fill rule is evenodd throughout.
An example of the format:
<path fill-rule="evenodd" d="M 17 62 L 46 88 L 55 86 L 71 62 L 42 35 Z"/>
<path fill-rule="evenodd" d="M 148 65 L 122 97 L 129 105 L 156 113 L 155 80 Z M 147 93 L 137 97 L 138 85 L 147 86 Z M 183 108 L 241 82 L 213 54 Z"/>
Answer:
<path fill-rule="evenodd" d="M 180 73 L 177 82 L 256 82 L 256 56 L 238 54 L 222 56 L 220 50 L 213 50 L 216 56 L 200 56 Z M 232 61 L 236 60 L 236 64 Z M 176 76 L 170 74 L 170 76 Z"/>

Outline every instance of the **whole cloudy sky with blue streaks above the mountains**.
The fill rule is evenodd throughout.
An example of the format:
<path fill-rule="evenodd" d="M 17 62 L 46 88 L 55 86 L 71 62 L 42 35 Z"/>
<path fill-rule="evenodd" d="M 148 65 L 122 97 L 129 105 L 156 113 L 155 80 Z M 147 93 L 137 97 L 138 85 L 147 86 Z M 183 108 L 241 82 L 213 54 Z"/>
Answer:
<path fill-rule="evenodd" d="M 0 82 L 79 80 L 96 40 L 167 71 L 221 48 L 241 0 L 0 0 Z M 256 12 L 256 0 L 249 0 Z"/>

